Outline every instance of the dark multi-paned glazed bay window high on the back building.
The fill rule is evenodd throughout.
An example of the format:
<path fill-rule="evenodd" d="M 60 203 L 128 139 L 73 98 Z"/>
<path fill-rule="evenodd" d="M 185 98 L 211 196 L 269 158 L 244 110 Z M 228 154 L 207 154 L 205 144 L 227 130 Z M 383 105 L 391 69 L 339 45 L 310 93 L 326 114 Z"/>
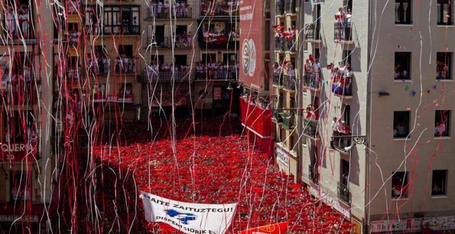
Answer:
<path fill-rule="evenodd" d="M 104 34 L 139 34 L 139 7 L 105 7 L 103 12 Z"/>

